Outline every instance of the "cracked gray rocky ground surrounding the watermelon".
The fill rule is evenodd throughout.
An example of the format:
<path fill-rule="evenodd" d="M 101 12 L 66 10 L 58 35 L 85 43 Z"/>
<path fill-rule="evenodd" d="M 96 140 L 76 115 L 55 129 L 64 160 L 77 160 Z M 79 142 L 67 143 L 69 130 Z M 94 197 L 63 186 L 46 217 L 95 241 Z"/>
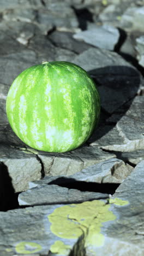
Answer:
<path fill-rule="evenodd" d="M 144 1 L 0 3 L 0 255 L 144 255 Z M 11 83 L 70 61 L 98 86 L 98 127 L 67 153 L 11 130 Z"/>

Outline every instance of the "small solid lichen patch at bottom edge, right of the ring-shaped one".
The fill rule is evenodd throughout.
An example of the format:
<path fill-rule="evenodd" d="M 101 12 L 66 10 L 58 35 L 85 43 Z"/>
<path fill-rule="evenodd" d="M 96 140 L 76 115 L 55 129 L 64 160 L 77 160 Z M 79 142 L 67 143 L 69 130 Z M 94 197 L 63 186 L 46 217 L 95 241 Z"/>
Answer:
<path fill-rule="evenodd" d="M 57 254 L 68 254 L 70 251 L 71 246 L 65 245 L 62 241 L 56 241 L 50 248 L 50 251 L 52 253 L 57 253 Z"/>

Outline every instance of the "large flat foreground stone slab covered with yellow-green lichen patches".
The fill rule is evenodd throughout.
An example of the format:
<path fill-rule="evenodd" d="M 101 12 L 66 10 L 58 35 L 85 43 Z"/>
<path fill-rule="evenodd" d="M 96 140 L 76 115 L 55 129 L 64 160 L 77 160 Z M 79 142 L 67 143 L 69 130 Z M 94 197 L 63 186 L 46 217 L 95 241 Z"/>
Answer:
<path fill-rule="evenodd" d="M 120 249 L 142 256 L 143 164 L 141 161 L 107 200 L 1 212 L 1 255 L 101 255 L 106 250 L 111 255 Z"/>

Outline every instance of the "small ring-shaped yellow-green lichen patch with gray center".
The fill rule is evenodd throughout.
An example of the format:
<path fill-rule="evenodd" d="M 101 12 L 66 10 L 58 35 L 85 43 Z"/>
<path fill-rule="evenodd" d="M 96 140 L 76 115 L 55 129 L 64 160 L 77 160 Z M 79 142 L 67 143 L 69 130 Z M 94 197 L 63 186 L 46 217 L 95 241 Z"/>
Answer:
<path fill-rule="evenodd" d="M 41 245 L 39 245 L 38 243 L 34 243 L 34 242 L 20 242 L 17 243 L 15 250 L 17 253 L 21 253 L 21 254 L 31 254 L 31 253 L 36 253 L 41 251 L 42 247 Z"/>

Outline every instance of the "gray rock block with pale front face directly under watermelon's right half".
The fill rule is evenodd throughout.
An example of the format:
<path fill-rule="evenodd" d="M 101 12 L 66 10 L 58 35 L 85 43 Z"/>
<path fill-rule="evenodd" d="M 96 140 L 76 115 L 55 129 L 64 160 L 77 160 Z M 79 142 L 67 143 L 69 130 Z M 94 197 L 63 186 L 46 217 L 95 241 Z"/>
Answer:
<path fill-rule="evenodd" d="M 115 154 L 104 152 L 98 147 L 87 146 L 61 154 L 45 152 L 38 152 L 37 154 L 43 162 L 45 175 L 52 176 L 61 174 L 69 176 L 81 171 L 87 166 L 92 166 L 100 161 L 115 157 Z"/>

